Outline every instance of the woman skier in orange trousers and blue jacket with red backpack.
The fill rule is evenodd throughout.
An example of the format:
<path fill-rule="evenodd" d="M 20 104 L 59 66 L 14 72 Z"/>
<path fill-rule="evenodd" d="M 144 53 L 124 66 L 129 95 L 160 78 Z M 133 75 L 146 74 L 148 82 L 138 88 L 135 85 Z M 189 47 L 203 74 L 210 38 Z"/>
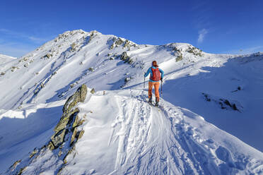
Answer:
<path fill-rule="evenodd" d="M 153 90 L 153 86 L 154 86 L 154 91 L 155 91 L 155 95 L 156 95 L 156 107 L 158 107 L 159 104 L 159 80 L 163 83 L 163 70 L 158 68 L 157 62 L 153 61 L 153 63 L 151 64 L 152 66 L 150 68 L 148 68 L 148 71 L 146 73 L 144 73 L 144 77 L 148 76 L 149 73 L 151 73 L 150 75 L 150 80 L 148 83 L 148 97 L 149 97 L 149 104 L 152 104 L 152 90 Z"/>

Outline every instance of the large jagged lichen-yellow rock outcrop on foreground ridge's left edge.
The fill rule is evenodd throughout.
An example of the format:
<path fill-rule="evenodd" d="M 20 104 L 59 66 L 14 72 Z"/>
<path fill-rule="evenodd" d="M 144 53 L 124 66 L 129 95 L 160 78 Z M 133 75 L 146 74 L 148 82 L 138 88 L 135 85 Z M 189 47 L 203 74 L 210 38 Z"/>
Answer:
<path fill-rule="evenodd" d="M 5 172 L 5 174 L 27 174 L 27 168 L 30 167 L 32 162 L 37 161 L 39 157 L 45 156 L 47 152 L 53 151 L 55 159 L 62 157 L 63 164 L 61 164 L 57 171 L 58 174 L 66 167 L 67 159 L 73 159 L 76 155 L 76 142 L 83 136 L 84 130 L 81 126 L 86 116 L 78 116 L 79 109 L 76 105 L 79 102 L 84 102 L 87 95 L 87 86 L 81 85 L 78 90 L 71 95 L 63 107 L 63 114 L 59 123 L 54 128 L 54 134 L 51 136 L 49 142 L 43 145 L 41 148 L 35 147 L 30 152 L 27 159 L 19 159 L 14 162 L 11 167 Z M 54 151 L 55 150 L 55 151 Z M 41 158 L 40 158 L 41 159 Z M 59 160 L 59 159 L 58 159 Z M 36 174 L 41 174 L 41 169 Z"/>

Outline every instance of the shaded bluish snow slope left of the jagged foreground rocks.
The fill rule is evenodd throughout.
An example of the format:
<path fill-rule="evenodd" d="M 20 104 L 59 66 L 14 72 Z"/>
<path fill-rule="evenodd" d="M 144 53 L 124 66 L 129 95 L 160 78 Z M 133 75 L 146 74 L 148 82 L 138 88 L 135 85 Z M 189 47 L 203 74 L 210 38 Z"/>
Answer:
<path fill-rule="evenodd" d="M 18 157 L 42 147 L 62 115 L 62 102 L 37 104 L 0 115 L 0 169 L 7 169 Z M 5 162 L 5 164 L 3 163 Z"/>

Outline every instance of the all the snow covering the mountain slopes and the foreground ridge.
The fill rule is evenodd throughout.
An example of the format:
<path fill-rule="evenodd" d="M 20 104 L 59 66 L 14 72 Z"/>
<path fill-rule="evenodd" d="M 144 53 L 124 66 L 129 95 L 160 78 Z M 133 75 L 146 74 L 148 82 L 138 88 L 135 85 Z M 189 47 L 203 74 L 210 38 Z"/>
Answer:
<path fill-rule="evenodd" d="M 165 71 L 160 108 L 143 89 L 153 59 Z M 262 64 L 262 53 L 64 32 L 1 62 L 0 174 L 263 174 Z M 65 136 L 49 150 L 62 107 L 82 84 L 83 136 L 74 149 Z"/>

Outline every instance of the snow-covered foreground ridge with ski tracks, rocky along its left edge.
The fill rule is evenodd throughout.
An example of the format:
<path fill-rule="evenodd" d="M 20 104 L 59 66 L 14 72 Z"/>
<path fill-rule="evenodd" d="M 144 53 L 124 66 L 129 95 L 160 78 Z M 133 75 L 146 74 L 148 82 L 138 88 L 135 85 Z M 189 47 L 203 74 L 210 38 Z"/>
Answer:
<path fill-rule="evenodd" d="M 48 142 L 36 147 L 18 159 L 6 174 L 263 172 L 262 152 L 187 109 L 168 102 L 163 102 L 160 109 L 151 107 L 146 97 L 146 92 L 141 90 L 95 94 L 88 90 L 85 101 L 72 108 L 79 112 L 77 116 L 71 112 L 73 124 L 66 121 L 69 126 L 64 126 L 68 129 L 64 141 L 54 139 L 59 143 L 57 147 L 50 147 Z M 65 104 L 64 112 L 67 107 Z M 63 114 L 59 123 L 63 122 L 63 117 L 66 116 Z M 80 122 L 76 124 L 77 129 L 71 129 L 76 122 Z M 78 136 L 75 131 L 79 135 L 83 132 Z"/>

